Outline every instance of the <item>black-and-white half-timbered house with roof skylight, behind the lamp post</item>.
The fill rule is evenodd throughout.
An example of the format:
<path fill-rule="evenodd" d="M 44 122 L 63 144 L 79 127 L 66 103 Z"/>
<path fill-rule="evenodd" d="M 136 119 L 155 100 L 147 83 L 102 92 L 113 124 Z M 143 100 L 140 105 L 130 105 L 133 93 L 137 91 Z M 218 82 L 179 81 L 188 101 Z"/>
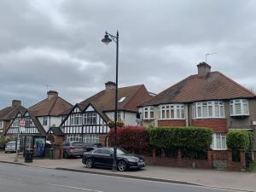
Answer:
<path fill-rule="evenodd" d="M 102 90 L 62 113 L 61 131 L 68 141 L 105 144 L 108 121 L 114 119 L 115 88 L 113 82 Z M 151 98 L 143 84 L 118 88 L 118 119 L 125 125 L 137 125 L 137 105 Z"/>

